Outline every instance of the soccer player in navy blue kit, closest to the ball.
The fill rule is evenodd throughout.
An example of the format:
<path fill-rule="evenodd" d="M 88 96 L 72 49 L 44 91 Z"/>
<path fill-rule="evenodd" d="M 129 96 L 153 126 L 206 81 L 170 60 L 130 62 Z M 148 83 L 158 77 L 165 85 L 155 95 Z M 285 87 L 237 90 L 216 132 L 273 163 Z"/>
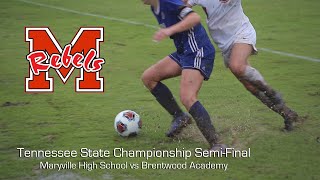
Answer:
<path fill-rule="evenodd" d="M 151 11 L 162 26 L 153 39 L 161 41 L 170 37 L 176 47 L 175 52 L 149 67 L 141 77 L 151 94 L 173 116 L 167 136 L 177 135 L 191 121 L 189 115 L 181 110 L 168 87 L 161 82 L 181 75 L 182 104 L 195 120 L 211 149 L 224 149 L 226 146 L 219 143 L 207 110 L 197 99 L 203 80 L 210 77 L 215 57 L 215 49 L 200 24 L 200 16 L 181 0 L 142 1 L 151 6 Z"/>

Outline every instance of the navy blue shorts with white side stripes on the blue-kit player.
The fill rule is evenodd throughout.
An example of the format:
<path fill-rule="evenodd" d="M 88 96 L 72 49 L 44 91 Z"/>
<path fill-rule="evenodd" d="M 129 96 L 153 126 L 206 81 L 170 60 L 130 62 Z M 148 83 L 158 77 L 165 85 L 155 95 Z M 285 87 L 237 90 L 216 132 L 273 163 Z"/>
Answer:
<path fill-rule="evenodd" d="M 169 55 L 182 69 L 197 69 L 201 72 L 204 80 L 208 80 L 213 70 L 215 50 L 212 46 L 204 46 L 196 52 Z"/>

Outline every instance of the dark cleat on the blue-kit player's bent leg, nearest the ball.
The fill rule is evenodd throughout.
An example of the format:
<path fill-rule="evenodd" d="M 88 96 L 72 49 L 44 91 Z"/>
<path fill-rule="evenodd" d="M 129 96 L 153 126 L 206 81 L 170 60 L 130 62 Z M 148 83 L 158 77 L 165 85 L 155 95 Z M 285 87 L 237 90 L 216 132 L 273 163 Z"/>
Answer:
<path fill-rule="evenodd" d="M 167 137 L 174 137 L 178 135 L 181 130 L 186 127 L 188 124 L 191 124 L 191 117 L 183 113 L 182 116 L 176 117 L 173 119 L 171 123 L 171 128 L 170 130 L 166 133 Z"/>

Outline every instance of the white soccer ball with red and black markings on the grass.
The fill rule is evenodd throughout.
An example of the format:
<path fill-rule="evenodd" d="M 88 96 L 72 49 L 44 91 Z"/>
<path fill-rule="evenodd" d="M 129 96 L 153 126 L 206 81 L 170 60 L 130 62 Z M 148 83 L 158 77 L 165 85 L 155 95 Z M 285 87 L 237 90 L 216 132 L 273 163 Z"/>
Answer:
<path fill-rule="evenodd" d="M 131 110 L 121 111 L 114 119 L 114 128 L 120 136 L 136 136 L 141 126 L 139 114 Z"/>

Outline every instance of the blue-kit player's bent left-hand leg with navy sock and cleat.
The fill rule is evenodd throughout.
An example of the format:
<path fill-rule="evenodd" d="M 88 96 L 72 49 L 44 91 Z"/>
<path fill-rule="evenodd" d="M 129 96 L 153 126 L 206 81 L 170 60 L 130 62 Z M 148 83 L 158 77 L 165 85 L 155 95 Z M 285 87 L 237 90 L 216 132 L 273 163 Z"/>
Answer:
<path fill-rule="evenodd" d="M 181 110 L 169 88 L 161 83 L 162 80 L 180 75 L 181 67 L 167 56 L 149 67 L 141 77 L 142 82 L 156 97 L 156 100 L 172 115 L 172 122 L 179 122 L 166 133 L 168 137 L 173 137 L 180 133 L 183 127 L 191 123 L 191 117 Z"/>

